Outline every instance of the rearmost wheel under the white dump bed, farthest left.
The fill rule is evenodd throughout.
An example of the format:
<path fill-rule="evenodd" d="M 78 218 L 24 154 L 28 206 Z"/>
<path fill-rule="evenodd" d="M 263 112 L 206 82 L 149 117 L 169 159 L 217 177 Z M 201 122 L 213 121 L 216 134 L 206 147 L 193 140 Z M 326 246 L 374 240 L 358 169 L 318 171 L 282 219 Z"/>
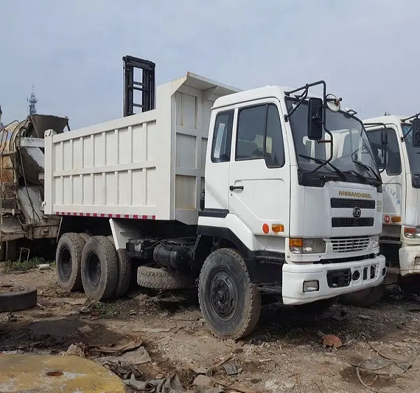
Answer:
<path fill-rule="evenodd" d="M 68 291 L 82 288 L 80 264 L 85 242 L 79 234 L 64 234 L 57 244 L 55 271 L 60 287 Z"/>

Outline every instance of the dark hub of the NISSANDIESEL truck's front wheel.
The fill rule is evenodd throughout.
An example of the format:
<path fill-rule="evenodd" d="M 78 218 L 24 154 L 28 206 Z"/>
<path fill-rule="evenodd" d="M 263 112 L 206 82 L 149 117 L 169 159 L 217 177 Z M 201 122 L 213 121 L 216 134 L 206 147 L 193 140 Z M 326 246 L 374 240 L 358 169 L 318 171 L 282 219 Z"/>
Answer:
<path fill-rule="evenodd" d="M 219 271 L 211 280 L 210 302 L 221 320 L 229 320 L 235 314 L 238 292 L 235 281 L 227 271 Z"/>

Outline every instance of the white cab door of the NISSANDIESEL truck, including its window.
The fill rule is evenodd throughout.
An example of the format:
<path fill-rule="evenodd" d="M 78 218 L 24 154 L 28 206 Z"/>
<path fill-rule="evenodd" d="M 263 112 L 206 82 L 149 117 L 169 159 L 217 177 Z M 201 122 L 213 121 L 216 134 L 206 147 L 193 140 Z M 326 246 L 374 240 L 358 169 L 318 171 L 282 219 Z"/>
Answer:
<path fill-rule="evenodd" d="M 281 107 L 258 100 L 237 108 L 229 172 L 229 210 L 255 235 L 289 233 L 290 170 Z"/>

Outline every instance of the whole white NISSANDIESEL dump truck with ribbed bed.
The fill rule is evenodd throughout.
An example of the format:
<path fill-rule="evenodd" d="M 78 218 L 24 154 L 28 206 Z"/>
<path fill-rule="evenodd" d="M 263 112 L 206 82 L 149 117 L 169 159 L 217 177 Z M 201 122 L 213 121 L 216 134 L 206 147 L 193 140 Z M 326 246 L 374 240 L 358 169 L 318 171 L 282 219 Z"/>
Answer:
<path fill-rule="evenodd" d="M 323 81 L 240 92 L 187 73 L 158 87 L 155 106 L 154 65 L 140 62 L 141 83 L 126 69 L 126 117 L 45 131 L 62 287 L 105 300 L 133 273 L 158 290 L 198 281 L 209 328 L 239 338 L 262 294 L 316 312 L 382 283 L 377 164 Z M 132 114 L 136 86 L 143 112 Z"/>

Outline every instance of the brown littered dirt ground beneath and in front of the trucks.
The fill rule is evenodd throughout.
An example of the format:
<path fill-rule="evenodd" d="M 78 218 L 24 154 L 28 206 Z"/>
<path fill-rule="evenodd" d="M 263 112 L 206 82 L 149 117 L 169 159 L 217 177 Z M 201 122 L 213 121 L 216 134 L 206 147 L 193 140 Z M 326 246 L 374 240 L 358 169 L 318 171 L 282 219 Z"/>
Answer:
<path fill-rule="evenodd" d="M 176 373 L 190 391 L 197 376 L 192 363 L 213 366 L 226 392 L 419 392 L 420 301 L 395 290 L 372 308 L 336 304 L 321 317 L 263 306 L 252 336 L 233 343 L 211 335 L 195 291 L 133 288 L 124 299 L 89 309 L 82 293 L 59 288 L 54 270 L 0 273 L 0 283 L 38 288 L 38 306 L 0 313 L 0 351 L 59 354 L 73 343 L 140 338 L 152 359 L 137 367 L 143 378 Z M 343 345 L 322 345 L 323 334 L 337 335 Z M 228 376 L 225 366 L 239 373 Z"/>

